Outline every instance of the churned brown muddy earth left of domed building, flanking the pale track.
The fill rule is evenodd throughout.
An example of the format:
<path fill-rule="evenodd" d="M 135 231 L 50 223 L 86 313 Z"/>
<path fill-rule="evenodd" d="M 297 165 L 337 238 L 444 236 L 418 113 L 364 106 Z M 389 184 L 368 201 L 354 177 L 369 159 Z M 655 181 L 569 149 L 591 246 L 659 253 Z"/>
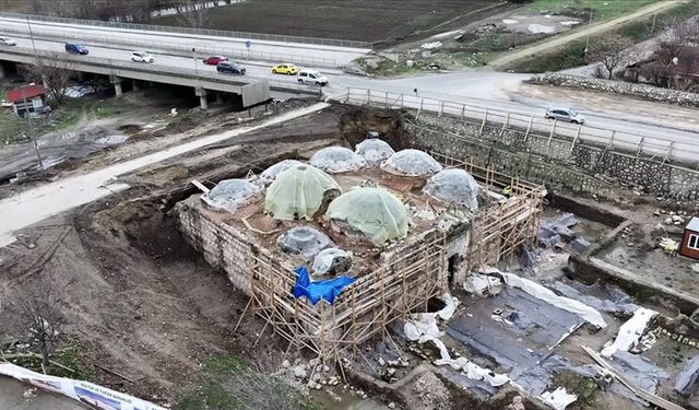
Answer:
<path fill-rule="evenodd" d="M 304 103 L 289 106 L 298 104 Z M 173 403 L 192 388 L 211 352 L 253 360 L 279 355 L 287 344 L 270 337 L 270 329 L 250 351 L 262 332 L 260 320 L 248 315 L 238 332 L 232 331 L 247 297 L 185 243 L 168 211 L 191 192 L 193 178 L 210 184 L 242 177 L 280 159 L 297 156 L 299 150 L 337 143 L 343 109 L 248 133 L 143 169 L 127 177 L 134 188 L 25 230 L 21 241 L 0 249 L 0 294 L 50 283 L 66 324 L 61 343 L 82 347 L 81 360 L 98 366 L 96 382 L 158 403 Z M 234 127 L 229 121 L 221 115 L 208 124 Z M 197 128 L 201 133 L 211 130 Z M 196 133 L 189 130 L 163 139 L 174 143 Z M 141 142 L 143 150 L 150 148 L 147 142 L 155 143 Z M 119 155 L 135 154 L 138 144 L 122 148 Z M 83 165 L 114 161 L 117 151 Z M 16 324 L 8 321 L 0 315 L 0 326 L 8 329 L 1 341 L 25 340 Z"/>

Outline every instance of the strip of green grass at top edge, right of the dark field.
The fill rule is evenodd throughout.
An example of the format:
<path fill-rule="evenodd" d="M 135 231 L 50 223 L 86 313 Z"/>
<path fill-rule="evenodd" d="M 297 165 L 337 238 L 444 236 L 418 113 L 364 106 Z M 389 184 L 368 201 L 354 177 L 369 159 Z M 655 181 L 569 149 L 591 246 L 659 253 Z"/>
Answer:
<path fill-rule="evenodd" d="M 593 21 L 599 22 L 615 19 L 657 2 L 660 0 L 534 0 L 533 3 L 528 4 L 526 9 L 535 13 L 548 11 L 552 14 L 570 10 L 589 12 L 592 9 Z"/>

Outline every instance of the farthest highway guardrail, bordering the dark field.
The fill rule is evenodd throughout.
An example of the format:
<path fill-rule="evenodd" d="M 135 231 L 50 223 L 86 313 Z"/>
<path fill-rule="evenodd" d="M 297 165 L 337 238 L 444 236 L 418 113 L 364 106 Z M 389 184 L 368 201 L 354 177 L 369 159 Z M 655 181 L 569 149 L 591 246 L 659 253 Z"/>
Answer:
<path fill-rule="evenodd" d="M 280 42 L 280 43 L 298 43 L 298 44 L 347 47 L 347 48 L 371 48 L 371 44 L 367 42 L 356 42 L 356 40 L 335 39 L 335 38 L 317 38 L 317 37 L 303 37 L 303 36 L 286 36 L 286 35 L 279 35 L 279 34 L 229 32 L 224 30 L 209 30 L 209 28 L 187 28 L 187 27 L 174 27 L 174 26 L 154 25 L 154 24 L 117 23 L 117 22 L 106 22 L 106 21 L 99 21 L 99 20 L 66 19 L 66 17 L 55 17 L 55 16 L 48 16 L 48 15 L 9 13 L 9 12 L 0 12 L 0 17 L 21 19 L 21 20 L 26 20 L 28 17 L 31 21 L 37 21 L 37 22 L 60 23 L 60 24 L 83 25 L 83 26 L 87 25 L 87 26 L 94 26 L 94 27 L 139 30 L 139 31 L 158 32 L 158 33 L 176 33 L 176 34 L 200 35 L 200 36 L 242 38 L 242 39 L 251 39 L 251 40 L 257 39 L 257 40 Z"/>

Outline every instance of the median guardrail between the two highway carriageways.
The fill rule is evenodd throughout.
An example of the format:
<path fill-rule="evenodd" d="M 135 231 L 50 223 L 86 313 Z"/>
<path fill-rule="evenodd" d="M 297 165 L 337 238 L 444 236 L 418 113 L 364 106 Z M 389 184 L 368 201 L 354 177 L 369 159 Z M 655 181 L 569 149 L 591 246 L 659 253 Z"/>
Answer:
<path fill-rule="evenodd" d="M 27 31 L 21 30 L 17 27 L 4 27 L 3 32 L 12 32 L 12 33 L 21 33 L 25 38 L 28 38 L 29 35 Z M 84 45 L 99 45 L 103 47 L 114 47 L 115 45 L 128 45 L 134 49 L 145 49 L 150 51 L 154 51 L 155 49 L 163 50 L 165 52 L 176 52 L 178 56 L 182 57 L 191 57 L 192 56 L 192 45 L 191 43 L 176 43 L 173 40 L 168 42 L 155 42 L 155 40 L 144 40 L 133 37 L 121 37 L 121 36 L 97 36 L 97 35 L 75 35 L 75 34 L 67 34 L 61 33 L 56 35 L 51 31 L 42 30 L 42 28 L 32 28 L 32 35 L 35 39 L 48 39 L 48 40 L 78 40 Z M 265 51 L 253 51 L 253 50 L 242 50 L 242 49 L 234 49 L 230 47 L 224 46 L 203 46 L 196 48 L 198 57 L 204 58 L 206 55 L 223 55 L 229 58 L 240 59 L 240 60 L 261 60 L 269 62 L 293 62 L 297 65 L 313 65 L 318 67 L 337 67 L 337 61 L 334 58 L 319 58 L 312 56 L 301 56 L 286 52 L 265 52 Z"/>

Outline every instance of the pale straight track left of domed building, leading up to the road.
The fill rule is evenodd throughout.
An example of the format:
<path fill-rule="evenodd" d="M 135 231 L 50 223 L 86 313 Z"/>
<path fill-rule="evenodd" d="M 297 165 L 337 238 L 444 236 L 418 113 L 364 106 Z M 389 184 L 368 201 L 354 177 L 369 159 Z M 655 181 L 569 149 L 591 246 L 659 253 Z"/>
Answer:
<path fill-rule="evenodd" d="M 109 194 L 129 188 L 126 184 L 115 183 L 112 180 L 119 175 L 198 150 L 212 143 L 312 114 L 328 106 L 325 103 L 313 104 L 273 117 L 253 127 L 234 129 L 200 138 L 153 154 L 114 164 L 88 174 L 59 179 L 55 183 L 46 184 L 0 200 L 0 212 L 13 215 L 13 218 L 5 218 L 0 222 L 0 247 L 14 241 L 12 233 L 16 230 L 29 226 L 48 216 L 56 215 L 74 207 L 104 198 Z"/>

